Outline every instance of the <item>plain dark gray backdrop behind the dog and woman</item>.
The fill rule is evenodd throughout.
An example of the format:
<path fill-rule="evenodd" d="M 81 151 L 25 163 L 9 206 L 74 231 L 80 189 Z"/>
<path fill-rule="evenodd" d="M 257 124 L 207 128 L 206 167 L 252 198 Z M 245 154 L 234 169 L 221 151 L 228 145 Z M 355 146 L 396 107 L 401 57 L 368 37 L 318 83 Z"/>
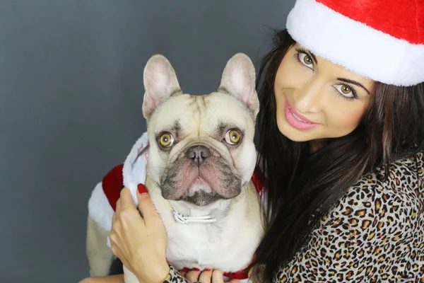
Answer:
<path fill-rule="evenodd" d="M 216 89 L 236 52 L 258 66 L 293 0 L 0 1 L 0 282 L 88 276 L 87 202 L 146 129 L 143 68 Z"/>

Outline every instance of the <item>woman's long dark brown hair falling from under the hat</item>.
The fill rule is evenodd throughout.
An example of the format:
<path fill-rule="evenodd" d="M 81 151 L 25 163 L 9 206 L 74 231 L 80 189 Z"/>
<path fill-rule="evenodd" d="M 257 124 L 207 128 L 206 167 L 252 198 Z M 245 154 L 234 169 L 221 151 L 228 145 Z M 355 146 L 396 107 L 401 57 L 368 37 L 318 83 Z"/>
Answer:
<path fill-rule="evenodd" d="M 273 86 L 293 44 L 286 30 L 278 31 L 257 79 L 258 163 L 265 175 L 267 223 L 253 275 L 261 282 L 273 281 L 278 268 L 293 258 L 362 175 L 387 169 L 392 161 L 424 148 L 424 83 L 403 87 L 376 82 L 360 125 L 351 134 L 329 139 L 313 154 L 307 141 L 291 141 L 281 134 Z"/>

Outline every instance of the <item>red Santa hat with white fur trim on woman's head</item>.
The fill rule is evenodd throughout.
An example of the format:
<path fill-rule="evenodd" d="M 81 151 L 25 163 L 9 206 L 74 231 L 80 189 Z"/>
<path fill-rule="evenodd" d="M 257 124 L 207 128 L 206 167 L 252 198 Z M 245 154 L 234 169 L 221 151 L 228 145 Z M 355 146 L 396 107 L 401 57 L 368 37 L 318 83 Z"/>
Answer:
<path fill-rule="evenodd" d="M 287 30 L 319 57 L 368 79 L 424 81 L 424 0 L 297 0 Z"/>

